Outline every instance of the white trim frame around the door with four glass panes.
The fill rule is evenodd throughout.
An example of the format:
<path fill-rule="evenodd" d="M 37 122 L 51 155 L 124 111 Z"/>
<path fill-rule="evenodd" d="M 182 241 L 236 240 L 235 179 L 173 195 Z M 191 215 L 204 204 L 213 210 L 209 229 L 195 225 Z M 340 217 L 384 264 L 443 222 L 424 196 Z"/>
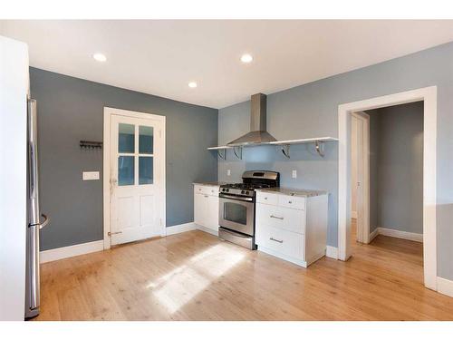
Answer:
<path fill-rule="evenodd" d="M 104 223 L 104 249 L 111 248 L 111 238 L 109 237 L 109 232 L 111 231 L 111 189 L 110 189 L 110 178 L 111 178 L 111 116 L 119 115 L 126 116 L 131 118 L 140 118 L 148 119 L 153 121 L 160 121 L 162 123 L 162 141 L 163 141 L 163 150 L 162 150 L 162 161 L 161 161 L 161 173 L 162 173 L 162 211 L 161 219 L 162 225 L 160 230 L 160 235 L 166 235 L 166 199 L 167 199 L 167 190 L 166 190 L 166 160 L 165 160 L 165 116 L 158 114 L 150 114 L 144 112 L 133 112 L 128 110 L 120 110 L 110 107 L 104 107 L 104 138 L 103 138 L 103 223 Z"/>

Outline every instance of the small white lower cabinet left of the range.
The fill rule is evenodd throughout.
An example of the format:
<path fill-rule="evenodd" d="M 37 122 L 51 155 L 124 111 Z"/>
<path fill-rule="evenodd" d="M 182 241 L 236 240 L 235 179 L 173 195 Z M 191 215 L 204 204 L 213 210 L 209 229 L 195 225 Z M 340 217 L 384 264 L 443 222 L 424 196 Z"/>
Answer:
<path fill-rule="evenodd" d="M 218 187 L 195 185 L 194 222 L 198 228 L 218 234 Z"/>

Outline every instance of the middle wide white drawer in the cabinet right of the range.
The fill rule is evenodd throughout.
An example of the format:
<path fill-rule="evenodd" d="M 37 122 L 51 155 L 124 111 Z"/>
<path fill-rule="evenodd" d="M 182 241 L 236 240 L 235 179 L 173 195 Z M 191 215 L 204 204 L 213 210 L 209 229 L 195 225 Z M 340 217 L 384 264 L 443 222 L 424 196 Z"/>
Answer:
<path fill-rule="evenodd" d="M 256 204 L 256 228 L 262 225 L 304 234 L 305 211 Z"/>

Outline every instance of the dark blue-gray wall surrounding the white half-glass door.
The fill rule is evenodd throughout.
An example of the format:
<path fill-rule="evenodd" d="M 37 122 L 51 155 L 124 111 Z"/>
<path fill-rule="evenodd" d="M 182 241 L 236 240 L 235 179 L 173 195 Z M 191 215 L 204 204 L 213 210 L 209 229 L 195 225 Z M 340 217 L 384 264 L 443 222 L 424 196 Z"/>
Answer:
<path fill-rule="evenodd" d="M 30 68 L 38 102 L 41 209 L 52 217 L 43 250 L 103 238 L 102 180 L 82 181 L 82 170 L 102 174 L 102 151 L 79 141 L 102 141 L 104 106 L 166 116 L 167 226 L 193 221 L 196 180 L 217 180 L 217 110 Z"/>

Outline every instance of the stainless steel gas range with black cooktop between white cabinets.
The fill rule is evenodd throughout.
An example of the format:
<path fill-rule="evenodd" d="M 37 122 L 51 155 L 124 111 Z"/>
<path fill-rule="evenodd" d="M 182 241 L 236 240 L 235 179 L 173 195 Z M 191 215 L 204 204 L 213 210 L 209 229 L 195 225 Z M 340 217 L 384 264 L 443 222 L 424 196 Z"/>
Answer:
<path fill-rule="evenodd" d="M 218 237 L 249 249 L 255 245 L 255 189 L 278 187 L 275 171 L 246 171 L 242 183 L 221 185 L 219 189 Z"/>

